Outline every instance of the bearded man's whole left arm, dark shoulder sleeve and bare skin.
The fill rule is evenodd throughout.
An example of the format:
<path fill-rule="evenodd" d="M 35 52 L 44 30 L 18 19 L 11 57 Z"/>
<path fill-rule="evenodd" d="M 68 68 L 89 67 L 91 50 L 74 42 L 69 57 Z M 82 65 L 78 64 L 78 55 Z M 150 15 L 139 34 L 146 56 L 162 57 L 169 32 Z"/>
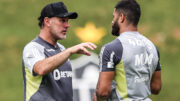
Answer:
<path fill-rule="evenodd" d="M 101 72 L 96 94 L 94 94 L 94 101 L 102 101 L 109 97 L 112 80 L 115 76 L 115 66 L 121 61 L 122 51 L 123 47 L 118 39 L 102 47 L 99 56 L 99 67 Z"/>

